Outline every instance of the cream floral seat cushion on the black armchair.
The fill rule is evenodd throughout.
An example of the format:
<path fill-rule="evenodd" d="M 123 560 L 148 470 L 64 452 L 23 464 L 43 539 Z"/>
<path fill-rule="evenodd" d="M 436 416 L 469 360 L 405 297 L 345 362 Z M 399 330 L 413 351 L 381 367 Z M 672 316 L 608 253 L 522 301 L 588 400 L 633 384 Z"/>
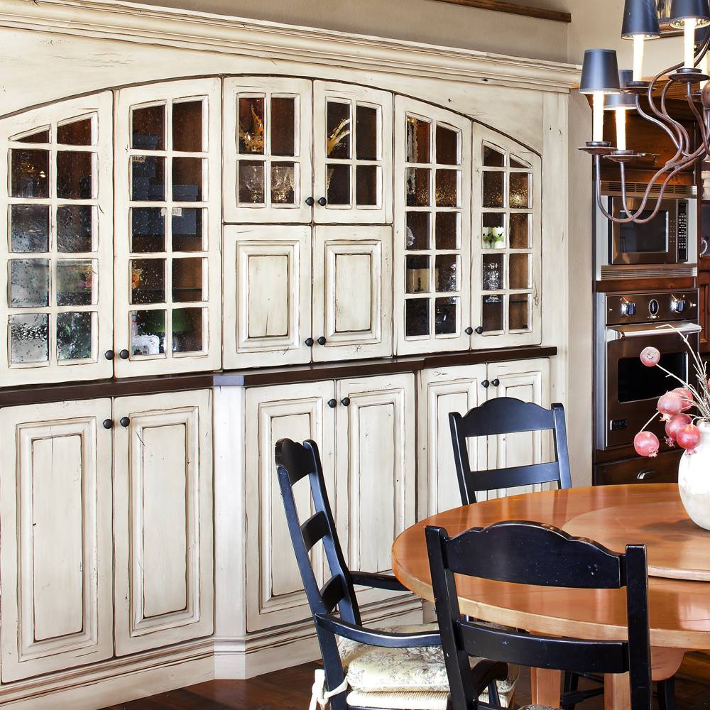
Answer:
<path fill-rule="evenodd" d="M 437 625 L 388 626 L 383 630 L 431 633 L 437 630 Z M 349 705 L 388 710 L 446 710 L 449 680 L 440 646 L 383 648 L 341 638 L 338 647 L 351 688 Z M 472 658 L 471 667 L 479 660 Z M 513 697 L 519 673 L 518 666 L 510 665 L 508 678 L 498 681 L 503 707 L 508 707 Z M 481 694 L 481 701 L 488 701 L 487 691 Z"/>

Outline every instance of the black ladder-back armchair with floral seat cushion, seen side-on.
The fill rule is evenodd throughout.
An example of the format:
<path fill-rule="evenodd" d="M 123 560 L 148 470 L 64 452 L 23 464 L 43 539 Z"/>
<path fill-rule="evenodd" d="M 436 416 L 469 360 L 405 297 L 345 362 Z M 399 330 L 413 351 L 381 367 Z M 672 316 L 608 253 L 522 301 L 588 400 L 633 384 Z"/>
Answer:
<path fill-rule="evenodd" d="M 425 697 L 427 701 L 431 700 L 431 705 L 417 707 L 431 710 L 445 707 L 448 681 L 437 626 L 427 624 L 414 629 L 410 627 L 408 631 L 407 627 L 403 627 L 398 631 L 371 630 L 362 624 L 354 591 L 356 584 L 393 591 L 408 590 L 389 575 L 351 572 L 347 568 L 315 442 L 298 444 L 290 439 L 281 439 L 275 447 L 275 460 L 288 530 L 323 657 L 324 686 L 322 676 L 319 681 L 317 671 L 314 697 L 321 701 L 329 699 L 332 710 L 370 710 L 368 699 L 377 701 L 373 704 L 378 708 L 407 707 L 403 703 L 406 703 L 407 692 L 410 692 L 415 693 L 419 701 Z M 306 476 L 310 482 L 315 513 L 301 522 L 295 507 L 293 486 Z M 320 541 L 324 545 L 329 574 L 332 575 L 322 587 L 317 584 L 309 557 L 310 550 Z M 339 616 L 334 613 L 336 607 Z M 340 645 L 336 637 L 342 639 Z M 386 656 L 379 668 L 378 652 Z M 379 671 L 385 669 L 385 672 L 379 672 L 368 685 L 366 675 L 373 666 Z M 388 688 L 386 669 L 395 670 L 401 679 L 401 674 L 408 667 L 412 668 L 408 691 L 404 692 L 401 687 Z M 491 703 L 497 705 L 499 698 L 496 680 L 506 687 L 507 670 L 505 664 L 488 661 L 477 663 L 469 670 L 472 687 L 478 690 L 476 697 L 487 690 Z M 411 689 L 412 679 L 415 684 L 421 685 L 420 689 Z M 396 699 L 397 702 L 391 706 L 382 704 L 383 698 L 386 701 Z"/>

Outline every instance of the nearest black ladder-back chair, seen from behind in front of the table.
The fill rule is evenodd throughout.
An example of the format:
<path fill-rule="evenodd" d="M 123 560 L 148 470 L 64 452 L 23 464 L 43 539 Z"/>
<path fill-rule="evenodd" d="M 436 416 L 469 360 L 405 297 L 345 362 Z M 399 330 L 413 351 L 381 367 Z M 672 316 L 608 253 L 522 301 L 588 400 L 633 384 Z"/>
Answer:
<path fill-rule="evenodd" d="M 506 663 L 630 674 L 631 710 L 651 710 L 648 571 L 644 545 L 617 555 L 596 542 L 541 523 L 506 521 L 449 537 L 427 526 L 427 549 L 452 710 L 476 710 L 469 656 Z M 461 616 L 454 574 L 577 589 L 626 587 L 628 640 L 549 638 L 481 626 Z"/>

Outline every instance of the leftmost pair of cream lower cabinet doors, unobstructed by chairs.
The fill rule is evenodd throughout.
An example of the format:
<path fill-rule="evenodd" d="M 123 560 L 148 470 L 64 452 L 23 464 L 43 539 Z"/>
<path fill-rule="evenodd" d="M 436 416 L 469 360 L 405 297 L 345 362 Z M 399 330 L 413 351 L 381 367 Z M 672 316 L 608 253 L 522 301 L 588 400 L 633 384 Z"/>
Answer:
<path fill-rule="evenodd" d="M 0 410 L 3 682 L 212 633 L 211 400 Z"/>

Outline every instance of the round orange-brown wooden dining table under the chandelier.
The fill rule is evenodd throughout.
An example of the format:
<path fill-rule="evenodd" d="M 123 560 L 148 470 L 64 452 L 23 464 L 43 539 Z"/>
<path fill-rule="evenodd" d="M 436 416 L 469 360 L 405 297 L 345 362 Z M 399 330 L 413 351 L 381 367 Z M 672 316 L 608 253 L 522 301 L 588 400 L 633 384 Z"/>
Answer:
<path fill-rule="evenodd" d="M 621 515 L 624 509 L 629 512 L 626 520 Z M 433 601 L 426 525 L 441 525 L 449 535 L 456 535 L 500 520 L 535 520 L 563 530 L 569 525 L 570 534 L 602 544 L 608 538 L 616 543 L 609 545 L 615 552 L 623 552 L 626 543 L 645 543 L 651 573 L 652 674 L 654 680 L 663 680 L 678 670 L 688 650 L 710 649 L 710 584 L 687 579 L 694 574 L 708 579 L 702 575 L 710 571 L 710 532 L 679 521 L 678 510 L 675 484 L 569 488 L 498 498 L 447 510 L 408 528 L 393 544 L 392 566 L 408 589 Z M 457 579 L 457 584 L 461 613 L 485 621 L 533 633 L 626 638 L 624 589 L 570 590 L 472 578 Z M 557 707 L 559 672 L 533 669 L 531 677 L 533 702 Z M 626 710 L 628 706 L 628 678 L 607 677 L 605 707 Z"/>

